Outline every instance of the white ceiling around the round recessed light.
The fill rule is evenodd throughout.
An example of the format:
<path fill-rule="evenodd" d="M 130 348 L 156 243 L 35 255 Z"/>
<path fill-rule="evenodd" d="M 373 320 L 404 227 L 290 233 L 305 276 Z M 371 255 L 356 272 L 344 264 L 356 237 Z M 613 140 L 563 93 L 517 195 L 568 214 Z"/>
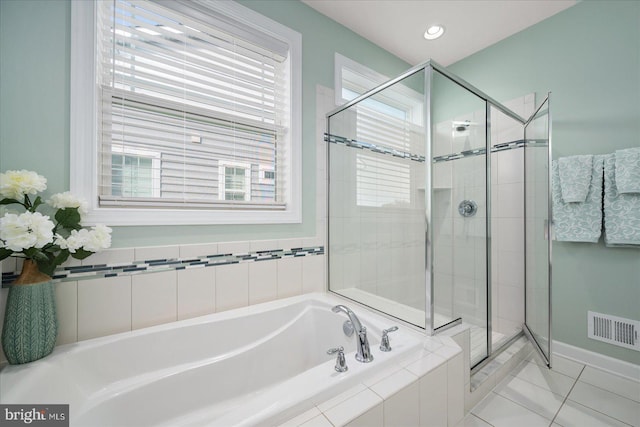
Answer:
<path fill-rule="evenodd" d="M 576 0 L 301 0 L 416 65 L 446 66 L 573 6 Z M 425 40 L 432 24 L 444 25 Z"/>

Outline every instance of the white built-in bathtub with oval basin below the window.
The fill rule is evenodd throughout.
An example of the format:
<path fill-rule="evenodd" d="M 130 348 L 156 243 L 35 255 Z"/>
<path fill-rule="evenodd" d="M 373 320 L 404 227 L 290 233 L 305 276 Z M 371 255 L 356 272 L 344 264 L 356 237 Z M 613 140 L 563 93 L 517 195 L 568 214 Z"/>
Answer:
<path fill-rule="evenodd" d="M 345 304 L 367 327 L 374 360 L 355 360 Z M 57 347 L 0 371 L 0 403 L 70 404 L 75 426 L 274 425 L 399 363 L 422 346 L 408 327 L 331 295 L 309 294 Z M 349 370 L 334 370 L 344 346 Z"/>

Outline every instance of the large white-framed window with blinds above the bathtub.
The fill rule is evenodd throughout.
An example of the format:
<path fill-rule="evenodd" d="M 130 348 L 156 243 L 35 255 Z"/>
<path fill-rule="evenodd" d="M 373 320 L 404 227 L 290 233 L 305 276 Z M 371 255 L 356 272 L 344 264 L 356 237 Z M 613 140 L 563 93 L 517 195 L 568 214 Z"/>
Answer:
<path fill-rule="evenodd" d="M 213 0 L 73 2 L 72 20 L 72 190 L 90 220 L 300 222 L 298 33 Z"/>

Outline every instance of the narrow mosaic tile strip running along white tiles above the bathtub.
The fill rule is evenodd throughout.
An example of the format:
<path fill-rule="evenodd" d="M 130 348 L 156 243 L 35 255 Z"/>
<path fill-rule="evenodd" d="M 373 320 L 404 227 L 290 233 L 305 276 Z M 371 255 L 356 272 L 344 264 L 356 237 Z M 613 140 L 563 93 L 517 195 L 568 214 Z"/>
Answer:
<path fill-rule="evenodd" d="M 219 265 L 246 262 L 271 261 L 283 258 L 324 255 L 324 246 L 307 248 L 272 249 L 238 254 L 203 255 L 188 259 L 151 259 L 113 265 L 97 264 L 63 267 L 55 271 L 54 280 L 71 281 L 98 279 L 103 277 L 129 276 L 159 271 L 185 270 L 190 268 L 216 267 Z M 6 288 L 18 277 L 15 272 L 2 273 L 2 287 Z"/>

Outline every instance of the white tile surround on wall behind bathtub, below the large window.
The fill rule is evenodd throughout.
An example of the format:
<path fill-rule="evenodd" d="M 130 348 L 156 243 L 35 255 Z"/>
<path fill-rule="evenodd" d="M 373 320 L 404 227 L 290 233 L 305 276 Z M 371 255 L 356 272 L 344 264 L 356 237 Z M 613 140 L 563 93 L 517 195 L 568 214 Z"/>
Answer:
<path fill-rule="evenodd" d="M 333 96 L 333 95 L 331 95 Z M 331 104 L 330 108 L 334 105 Z M 328 111 L 319 103 L 317 115 Z M 57 344 L 126 332 L 162 323 L 245 307 L 308 292 L 326 290 L 324 251 L 295 256 L 292 248 L 323 248 L 326 239 L 326 143 L 325 124 L 316 138 L 316 235 L 308 238 L 223 242 L 108 249 L 82 262 L 65 266 L 132 265 L 145 260 L 192 259 L 217 254 L 240 255 L 236 263 L 195 264 L 164 271 L 122 271 L 104 277 L 87 273 L 78 280 L 67 278 L 55 285 L 59 321 Z M 264 260 L 241 259 L 244 254 L 279 251 Z M 301 255 L 300 252 L 295 252 Z M 288 254 L 288 255 L 284 255 Z M 248 258 L 248 257 L 247 257 Z M 142 265 L 149 265 L 144 263 Z M 3 274 L 19 272 L 21 261 L 2 262 Z M 128 270 L 128 269 L 125 269 Z M 111 275 L 111 274 L 108 274 Z M 93 277 L 92 277 L 93 276 Z M 5 276 L 6 277 L 6 276 Z M 0 328 L 8 289 L 0 289 Z M 6 359 L 0 350 L 0 363 Z"/>

